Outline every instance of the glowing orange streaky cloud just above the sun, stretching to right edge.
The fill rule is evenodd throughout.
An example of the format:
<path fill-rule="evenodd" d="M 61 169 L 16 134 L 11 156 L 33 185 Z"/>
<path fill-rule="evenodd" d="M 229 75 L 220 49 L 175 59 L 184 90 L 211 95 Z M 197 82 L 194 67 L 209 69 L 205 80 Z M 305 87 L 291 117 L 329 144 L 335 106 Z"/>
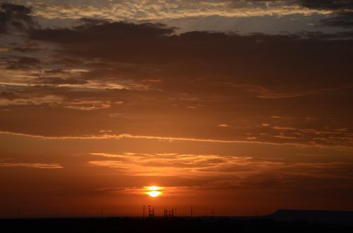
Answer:
<path fill-rule="evenodd" d="M 100 155 L 98 155 L 100 154 Z M 104 156 L 95 153 L 94 156 Z M 200 180 L 197 190 L 265 190 L 275 193 L 305 190 L 306 193 L 342 189 L 352 184 L 349 162 L 285 162 L 247 156 L 184 154 L 109 154 L 109 160 L 90 160 L 91 165 L 117 169 L 133 176 L 184 177 Z M 120 156 L 121 155 L 121 156 Z M 321 155 L 304 155 L 317 157 Z M 337 184 L 340 185 L 337 185 Z M 315 184 L 315 185 L 313 185 Z M 167 191 L 169 187 L 166 187 Z M 109 191 L 114 191 L 114 189 Z M 123 191 L 120 190 L 119 191 Z M 124 190 L 126 191 L 126 190 Z M 138 193 L 136 188 L 131 193 Z M 239 194 L 239 193 L 238 193 Z"/>

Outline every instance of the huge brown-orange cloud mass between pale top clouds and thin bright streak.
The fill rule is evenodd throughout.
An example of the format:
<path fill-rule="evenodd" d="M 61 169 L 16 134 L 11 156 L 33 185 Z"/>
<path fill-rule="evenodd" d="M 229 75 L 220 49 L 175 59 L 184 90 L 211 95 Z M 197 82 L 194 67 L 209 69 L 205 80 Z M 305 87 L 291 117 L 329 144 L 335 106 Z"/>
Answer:
<path fill-rule="evenodd" d="M 322 33 L 174 32 L 159 23 L 96 18 L 30 30 L 28 44 L 47 49 L 45 55 L 3 56 L 0 105 L 9 111 L 0 129 L 49 137 L 99 137 L 104 129 L 171 141 L 351 146 L 352 40 Z M 217 129 L 222 122 L 232 127 Z M 263 122 L 347 132 L 317 137 L 278 132 Z"/>

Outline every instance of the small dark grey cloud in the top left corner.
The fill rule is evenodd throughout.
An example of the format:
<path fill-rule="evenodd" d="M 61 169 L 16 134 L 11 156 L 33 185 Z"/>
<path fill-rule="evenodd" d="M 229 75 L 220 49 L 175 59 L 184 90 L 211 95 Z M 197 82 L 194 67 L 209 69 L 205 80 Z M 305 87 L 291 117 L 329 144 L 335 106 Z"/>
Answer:
<path fill-rule="evenodd" d="M 1 4 L 0 35 L 11 30 L 26 31 L 38 24 L 30 16 L 31 8 L 16 4 Z"/>

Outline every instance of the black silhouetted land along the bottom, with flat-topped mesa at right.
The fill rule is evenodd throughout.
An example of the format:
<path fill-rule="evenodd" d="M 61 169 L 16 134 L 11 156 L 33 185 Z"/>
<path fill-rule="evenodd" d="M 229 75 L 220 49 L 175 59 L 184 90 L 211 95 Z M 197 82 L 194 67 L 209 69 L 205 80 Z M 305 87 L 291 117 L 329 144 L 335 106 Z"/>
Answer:
<path fill-rule="evenodd" d="M 261 217 L 103 217 L 0 220 L 1 232 L 353 232 L 353 213 L 277 210 Z"/>

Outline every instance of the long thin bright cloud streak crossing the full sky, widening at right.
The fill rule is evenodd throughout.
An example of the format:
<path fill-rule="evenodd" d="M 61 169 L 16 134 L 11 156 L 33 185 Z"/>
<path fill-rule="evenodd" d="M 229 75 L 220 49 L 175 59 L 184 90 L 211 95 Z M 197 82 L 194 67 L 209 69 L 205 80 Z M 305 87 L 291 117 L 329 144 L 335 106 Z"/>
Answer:
<path fill-rule="evenodd" d="M 318 131 L 316 129 L 295 129 L 288 126 L 273 126 L 273 131 L 268 133 L 256 133 L 254 136 L 246 136 L 243 140 L 220 140 L 217 138 L 182 138 L 172 136 L 148 136 L 148 135 L 131 135 L 128 133 L 116 134 L 114 131 L 102 131 L 97 134 L 79 135 L 79 136 L 40 136 L 30 135 L 26 133 L 13 133 L 0 131 L 4 134 L 12 134 L 18 136 L 30 136 L 42 139 L 140 139 L 167 141 L 169 143 L 193 142 L 193 143 L 224 143 L 224 144 L 254 144 L 254 145 L 293 145 L 301 148 L 325 148 L 340 151 L 352 151 L 352 133 L 350 131 Z M 265 127 L 265 129 L 269 129 Z M 278 133 L 280 131 L 280 133 Z M 258 136 L 257 136 L 258 135 Z M 263 138 L 265 137 L 265 139 Z M 274 140 L 275 138 L 281 140 Z M 255 140 L 256 139 L 256 140 Z M 285 140 L 285 141 L 283 141 Z M 112 155 L 114 156 L 114 155 Z M 108 157 L 108 156 L 106 156 Z"/>

